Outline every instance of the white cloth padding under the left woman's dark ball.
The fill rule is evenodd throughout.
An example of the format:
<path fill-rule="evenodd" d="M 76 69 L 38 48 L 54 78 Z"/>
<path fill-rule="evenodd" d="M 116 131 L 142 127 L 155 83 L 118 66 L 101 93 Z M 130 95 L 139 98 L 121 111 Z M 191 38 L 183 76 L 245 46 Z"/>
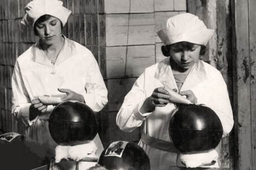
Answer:
<path fill-rule="evenodd" d="M 62 159 L 68 160 L 69 158 L 79 161 L 85 157 L 95 158 L 97 147 L 94 141 L 75 146 L 61 146 L 55 148 L 55 162 L 58 163 Z"/>

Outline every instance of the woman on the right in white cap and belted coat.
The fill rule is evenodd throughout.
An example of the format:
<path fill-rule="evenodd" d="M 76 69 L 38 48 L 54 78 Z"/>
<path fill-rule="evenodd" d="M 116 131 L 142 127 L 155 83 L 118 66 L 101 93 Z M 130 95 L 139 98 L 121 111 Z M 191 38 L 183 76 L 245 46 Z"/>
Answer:
<path fill-rule="evenodd" d="M 162 52 L 167 58 L 146 68 L 124 98 L 116 123 L 123 131 L 130 132 L 144 122 L 139 145 L 148 154 L 152 170 L 180 166 L 178 152 L 168 133 L 171 115 L 176 111 L 170 102 L 170 89 L 192 103 L 212 108 L 220 118 L 224 135 L 233 127 L 232 109 L 222 75 L 199 60 L 213 33 L 193 14 L 169 18 L 167 27 L 158 31 L 164 43 Z M 212 167 L 218 167 L 218 162 Z"/>

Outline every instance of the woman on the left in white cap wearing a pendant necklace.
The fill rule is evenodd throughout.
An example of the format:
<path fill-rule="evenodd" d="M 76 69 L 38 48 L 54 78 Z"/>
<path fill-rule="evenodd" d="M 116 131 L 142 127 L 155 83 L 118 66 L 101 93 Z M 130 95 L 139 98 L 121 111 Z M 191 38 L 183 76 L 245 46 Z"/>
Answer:
<path fill-rule="evenodd" d="M 60 0 L 32 0 L 21 23 L 34 29 L 39 41 L 18 57 L 12 76 L 12 114 L 26 125 L 26 141 L 40 156 L 52 158 L 56 143 L 48 129 L 53 105 L 38 96 L 76 100 L 100 111 L 108 102 L 98 64 L 86 47 L 61 34 L 71 11 Z M 103 150 L 94 138 L 98 156 Z M 65 168 L 68 169 L 68 168 Z"/>

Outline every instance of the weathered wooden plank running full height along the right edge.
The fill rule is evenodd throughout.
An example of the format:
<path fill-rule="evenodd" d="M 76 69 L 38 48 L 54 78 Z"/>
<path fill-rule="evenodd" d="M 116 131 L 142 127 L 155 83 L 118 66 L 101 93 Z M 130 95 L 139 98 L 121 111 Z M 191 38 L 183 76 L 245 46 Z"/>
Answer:
<path fill-rule="evenodd" d="M 235 169 L 255 169 L 255 2 L 234 0 L 234 111 Z M 254 131 L 253 131 L 254 130 Z M 254 137 L 254 138 L 252 138 Z M 254 165 L 254 166 L 253 166 Z"/>

